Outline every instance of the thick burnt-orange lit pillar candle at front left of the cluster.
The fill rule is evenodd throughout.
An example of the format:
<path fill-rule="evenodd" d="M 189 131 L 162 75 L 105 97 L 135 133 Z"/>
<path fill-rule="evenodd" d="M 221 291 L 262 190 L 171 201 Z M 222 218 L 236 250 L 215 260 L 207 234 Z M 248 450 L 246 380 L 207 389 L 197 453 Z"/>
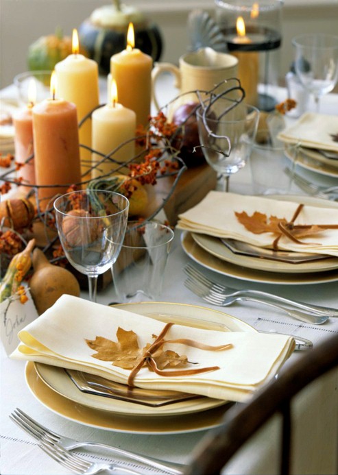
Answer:
<path fill-rule="evenodd" d="M 55 73 L 52 98 L 33 108 L 34 165 L 40 207 L 44 210 L 58 193 L 80 183 L 80 149 L 75 104 L 56 99 Z M 63 186 L 51 186 L 63 185 Z"/>

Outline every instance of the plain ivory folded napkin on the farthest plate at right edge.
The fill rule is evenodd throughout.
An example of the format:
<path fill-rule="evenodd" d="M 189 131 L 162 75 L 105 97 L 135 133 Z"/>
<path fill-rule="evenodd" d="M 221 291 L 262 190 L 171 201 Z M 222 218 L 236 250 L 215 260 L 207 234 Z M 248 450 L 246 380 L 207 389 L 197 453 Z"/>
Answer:
<path fill-rule="evenodd" d="M 338 116 L 306 112 L 297 122 L 280 132 L 278 138 L 303 147 L 338 151 Z"/>

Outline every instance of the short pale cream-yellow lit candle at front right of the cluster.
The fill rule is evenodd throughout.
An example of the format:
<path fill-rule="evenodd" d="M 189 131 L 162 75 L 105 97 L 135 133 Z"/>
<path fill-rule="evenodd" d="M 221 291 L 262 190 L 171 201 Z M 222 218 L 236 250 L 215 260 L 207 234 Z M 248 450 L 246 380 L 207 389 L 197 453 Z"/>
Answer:
<path fill-rule="evenodd" d="M 108 155 L 117 147 L 120 147 L 114 154 L 112 159 L 118 162 L 125 162 L 135 156 L 135 142 L 132 140 L 136 132 L 136 114 L 133 110 L 125 108 L 121 103 L 117 103 L 116 82 L 112 82 L 112 100 L 106 106 L 95 110 L 92 115 L 92 136 L 93 149 L 101 154 Z M 93 154 L 93 167 L 97 165 L 102 156 Z M 93 178 L 99 178 L 102 175 L 112 175 L 119 167 L 112 161 L 105 160 L 99 163 L 92 171 Z"/>

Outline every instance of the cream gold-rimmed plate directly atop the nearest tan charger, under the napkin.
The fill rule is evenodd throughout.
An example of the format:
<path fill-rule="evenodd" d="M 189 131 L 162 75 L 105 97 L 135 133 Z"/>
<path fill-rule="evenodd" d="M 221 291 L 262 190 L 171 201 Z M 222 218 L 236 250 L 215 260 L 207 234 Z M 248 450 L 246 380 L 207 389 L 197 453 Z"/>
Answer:
<path fill-rule="evenodd" d="M 176 324 L 204 328 L 206 331 L 244 331 L 256 332 L 252 326 L 218 310 L 189 304 L 175 304 L 165 302 L 141 302 L 135 304 L 120 304 L 119 308 L 130 310 L 133 313 L 145 315 L 163 322 L 173 321 Z M 172 416 L 197 413 L 224 405 L 223 400 L 212 398 L 197 398 L 169 404 L 167 406 L 149 407 L 122 400 L 105 398 L 99 395 L 82 393 L 71 381 L 63 368 L 34 363 L 35 371 L 41 380 L 51 390 L 76 404 L 88 406 L 91 409 L 109 411 L 119 415 L 133 416 Z"/>

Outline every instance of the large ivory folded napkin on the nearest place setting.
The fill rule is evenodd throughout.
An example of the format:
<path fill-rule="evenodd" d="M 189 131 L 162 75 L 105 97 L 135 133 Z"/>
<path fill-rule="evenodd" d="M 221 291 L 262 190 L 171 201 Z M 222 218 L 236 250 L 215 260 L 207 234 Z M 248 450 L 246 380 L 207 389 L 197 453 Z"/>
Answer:
<path fill-rule="evenodd" d="M 193 312 L 193 308 L 192 308 Z M 126 383 L 130 370 L 113 366 L 110 361 L 93 358 L 94 350 L 86 339 L 97 336 L 117 341 L 117 328 L 133 330 L 138 345 L 152 343 L 165 324 L 127 310 L 62 295 L 43 315 L 19 332 L 22 343 L 11 357 L 38 361 L 69 369 L 99 374 Z M 233 348 L 206 351 L 179 343 L 167 343 L 165 349 L 186 355 L 197 364 L 186 368 L 219 366 L 219 369 L 191 376 L 160 376 L 143 367 L 134 384 L 143 388 L 173 389 L 206 395 L 210 398 L 242 401 L 274 377 L 294 348 L 293 338 L 282 334 L 256 332 L 219 332 L 173 325 L 165 339 L 189 338 L 208 345 L 232 343 Z M 170 369 L 167 370 L 168 373 Z"/>

